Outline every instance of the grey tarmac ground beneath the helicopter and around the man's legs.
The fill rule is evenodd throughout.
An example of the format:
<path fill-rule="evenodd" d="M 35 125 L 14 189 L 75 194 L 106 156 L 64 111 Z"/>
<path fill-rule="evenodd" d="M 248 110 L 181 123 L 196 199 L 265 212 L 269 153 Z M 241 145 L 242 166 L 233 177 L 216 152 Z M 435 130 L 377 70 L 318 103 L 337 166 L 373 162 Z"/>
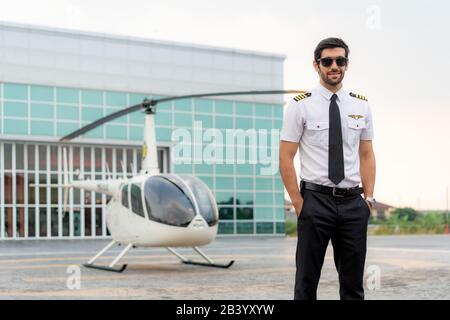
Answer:
<path fill-rule="evenodd" d="M 109 240 L 0 242 L 0 299 L 282 299 L 293 298 L 296 237 L 219 237 L 202 250 L 229 269 L 185 265 L 164 248 L 132 249 L 122 273 L 88 269 Z M 107 265 L 123 247 L 107 252 Z M 177 249 L 202 261 L 191 249 Z M 450 236 L 370 236 L 366 299 L 450 299 Z M 339 299 L 332 247 L 319 299 Z"/>

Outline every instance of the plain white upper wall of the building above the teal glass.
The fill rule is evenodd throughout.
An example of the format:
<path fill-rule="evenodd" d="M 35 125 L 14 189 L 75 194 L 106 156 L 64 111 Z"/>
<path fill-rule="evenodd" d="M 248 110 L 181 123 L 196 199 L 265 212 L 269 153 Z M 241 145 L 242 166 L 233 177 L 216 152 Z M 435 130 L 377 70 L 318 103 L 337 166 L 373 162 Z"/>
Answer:
<path fill-rule="evenodd" d="M 0 23 L 4 82 L 160 95 L 275 90 L 283 89 L 283 62 L 279 55 Z M 283 103 L 281 95 L 238 100 Z"/>

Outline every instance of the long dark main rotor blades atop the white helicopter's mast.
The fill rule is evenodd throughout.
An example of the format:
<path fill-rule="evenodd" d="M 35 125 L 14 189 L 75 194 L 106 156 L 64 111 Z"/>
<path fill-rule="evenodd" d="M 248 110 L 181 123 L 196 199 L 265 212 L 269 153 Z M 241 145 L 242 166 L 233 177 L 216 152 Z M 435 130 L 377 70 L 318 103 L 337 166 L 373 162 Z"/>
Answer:
<path fill-rule="evenodd" d="M 140 104 L 119 110 L 115 113 L 107 115 L 106 117 L 100 118 L 80 129 L 62 137 L 59 141 L 61 141 L 61 142 L 70 141 L 86 132 L 89 132 L 89 131 L 97 128 L 98 126 L 101 126 L 102 124 L 104 124 L 108 121 L 114 120 L 116 118 L 127 115 L 128 113 L 135 112 L 135 111 L 138 111 L 141 109 L 147 110 L 147 108 L 152 108 L 152 107 L 156 106 L 159 102 L 167 102 L 167 101 L 172 101 L 172 100 L 189 99 L 189 98 L 215 97 L 215 96 L 241 96 L 241 95 L 288 94 L 288 93 L 306 93 L 306 91 L 303 91 L 303 90 L 264 90 L 264 91 L 253 90 L 253 91 L 233 91 L 233 92 L 214 92 L 214 93 L 190 94 L 190 95 L 173 96 L 173 97 L 152 99 L 152 100 L 145 99 Z"/>

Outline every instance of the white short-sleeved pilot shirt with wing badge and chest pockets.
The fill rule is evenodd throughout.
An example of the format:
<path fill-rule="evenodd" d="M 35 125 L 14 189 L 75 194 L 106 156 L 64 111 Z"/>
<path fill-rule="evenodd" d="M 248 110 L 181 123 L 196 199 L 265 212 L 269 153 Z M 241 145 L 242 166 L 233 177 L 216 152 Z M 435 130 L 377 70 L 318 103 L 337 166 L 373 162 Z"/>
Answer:
<path fill-rule="evenodd" d="M 336 92 L 341 115 L 345 177 L 335 185 L 328 179 L 329 108 L 333 93 L 319 85 L 311 96 L 292 100 L 284 114 L 281 140 L 300 147 L 300 178 L 320 185 L 340 188 L 358 186 L 359 141 L 373 139 L 372 114 L 366 100 L 342 88 Z"/>

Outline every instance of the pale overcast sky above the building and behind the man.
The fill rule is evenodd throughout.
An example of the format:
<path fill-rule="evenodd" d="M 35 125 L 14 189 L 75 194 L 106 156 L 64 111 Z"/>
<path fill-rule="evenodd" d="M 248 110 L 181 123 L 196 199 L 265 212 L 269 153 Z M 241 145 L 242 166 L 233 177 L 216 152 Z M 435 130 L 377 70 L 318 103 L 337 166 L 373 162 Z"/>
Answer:
<path fill-rule="evenodd" d="M 285 88 L 318 83 L 313 51 L 326 37 L 350 47 L 344 88 L 374 117 L 375 197 L 445 209 L 450 186 L 450 3 L 299 0 L 0 0 L 0 20 L 279 53 Z"/>

